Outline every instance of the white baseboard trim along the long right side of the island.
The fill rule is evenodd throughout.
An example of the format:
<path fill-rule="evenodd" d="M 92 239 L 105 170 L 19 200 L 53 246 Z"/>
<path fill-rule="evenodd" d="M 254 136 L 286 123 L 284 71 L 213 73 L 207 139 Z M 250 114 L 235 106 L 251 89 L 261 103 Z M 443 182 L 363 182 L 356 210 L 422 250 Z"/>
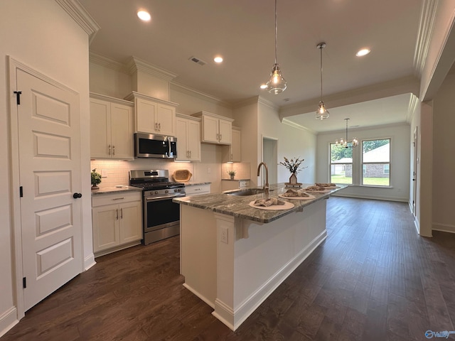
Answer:
<path fill-rule="evenodd" d="M 287 262 L 282 269 L 279 269 L 274 276 L 252 293 L 237 308 L 230 308 L 228 305 L 215 300 L 215 311 L 212 313 L 231 330 L 236 330 L 245 320 L 269 297 L 278 286 L 326 239 L 327 231 L 324 229 L 314 238 L 305 249 L 296 254 L 293 259 Z"/>

